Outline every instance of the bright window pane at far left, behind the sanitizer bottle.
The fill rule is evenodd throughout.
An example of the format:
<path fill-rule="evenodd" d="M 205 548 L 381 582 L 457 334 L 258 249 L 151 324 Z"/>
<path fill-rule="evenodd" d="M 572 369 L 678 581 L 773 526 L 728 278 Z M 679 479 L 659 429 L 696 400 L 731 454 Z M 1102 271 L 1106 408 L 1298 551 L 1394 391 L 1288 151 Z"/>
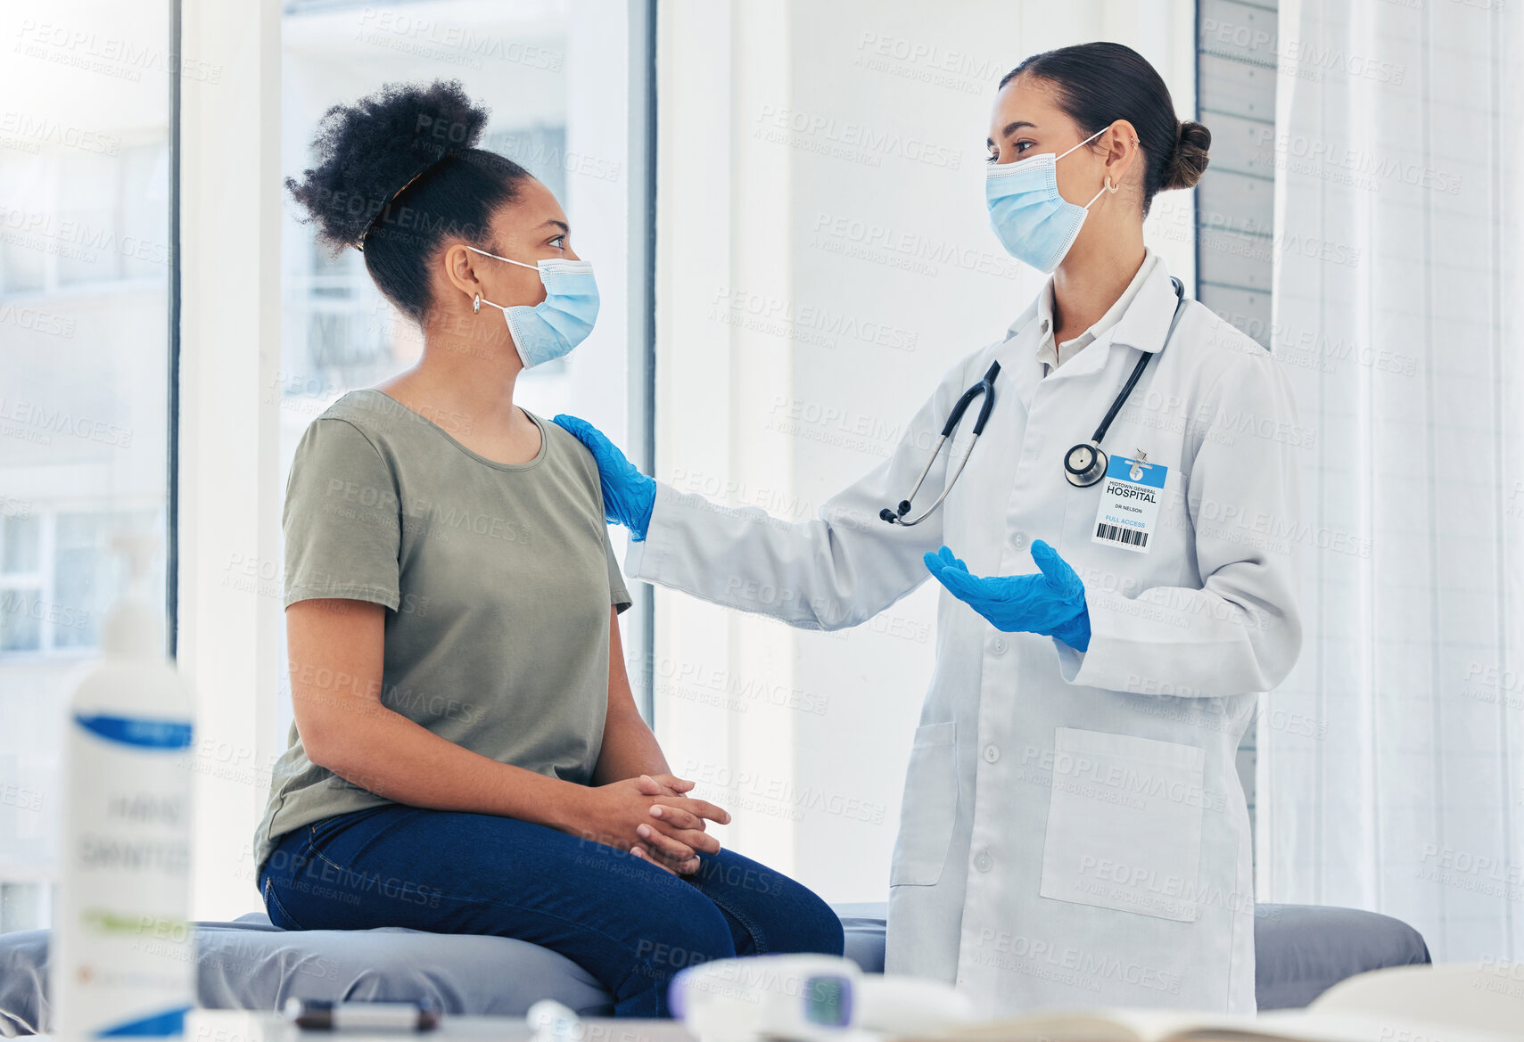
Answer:
<path fill-rule="evenodd" d="M 169 15 L 59 0 L 6 20 L 0 931 L 52 914 L 64 707 L 122 580 L 110 538 L 168 532 Z"/>

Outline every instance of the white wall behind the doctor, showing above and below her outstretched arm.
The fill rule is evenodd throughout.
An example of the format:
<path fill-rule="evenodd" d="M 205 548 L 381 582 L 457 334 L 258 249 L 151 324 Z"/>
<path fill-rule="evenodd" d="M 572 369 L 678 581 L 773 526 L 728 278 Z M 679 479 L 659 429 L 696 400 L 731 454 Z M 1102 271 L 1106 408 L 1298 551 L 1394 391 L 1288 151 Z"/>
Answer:
<path fill-rule="evenodd" d="M 1193 5 L 663 3 L 657 475 L 789 519 L 872 468 L 959 356 L 1041 286 L 988 227 L 989 107 L 1029 53 L 1138 49 L 1195 110 Z M 1149 241 L 1193 285 L 1189 193 Z M 1009 277 L 1013 276 L 1013 277 Z M 853 631 L 657 593 L 657 733 L 732 809 L 722 841 L 831 900 L 882 900 L 931 676 L 922 587 Z"/>

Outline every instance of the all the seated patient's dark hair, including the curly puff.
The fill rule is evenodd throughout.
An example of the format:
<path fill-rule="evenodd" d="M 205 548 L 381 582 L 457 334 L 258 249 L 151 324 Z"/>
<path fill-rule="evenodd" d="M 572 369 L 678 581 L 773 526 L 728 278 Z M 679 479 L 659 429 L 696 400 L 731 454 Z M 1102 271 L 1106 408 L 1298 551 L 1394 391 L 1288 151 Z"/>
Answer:
<path fill-rule="evenodd" d="M 376 288 L 415 320 L 431 303 L 428 262 L 445 239 L 486 248 L 492 215 L 530 177 L 475 148 L 489 114 L 459 79 L 386 84 L 323 113 L 317 166 L 285 180 L 317 241 L 332 256 L 360 247 Z"/>

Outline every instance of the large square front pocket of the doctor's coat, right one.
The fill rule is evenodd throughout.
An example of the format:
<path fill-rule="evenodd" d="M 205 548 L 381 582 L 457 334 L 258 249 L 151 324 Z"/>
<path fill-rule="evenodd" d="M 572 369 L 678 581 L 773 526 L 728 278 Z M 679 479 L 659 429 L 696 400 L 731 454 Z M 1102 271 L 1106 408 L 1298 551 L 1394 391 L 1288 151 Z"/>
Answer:
<path fill-rule="evenodd" d="M 1038 893 L 1195 922 L 1204 766 L 1195 745 L 1056 728 Z"/>

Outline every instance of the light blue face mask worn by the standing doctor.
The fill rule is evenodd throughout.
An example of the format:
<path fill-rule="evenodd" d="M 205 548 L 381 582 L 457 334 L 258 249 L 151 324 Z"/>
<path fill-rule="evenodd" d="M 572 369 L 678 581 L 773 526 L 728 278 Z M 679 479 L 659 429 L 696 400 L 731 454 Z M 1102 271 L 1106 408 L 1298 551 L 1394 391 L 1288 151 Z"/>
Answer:
<path fill-rule="evenodd" d="M 1111 128 L 1103 126 L 1079 145 L 1088 145 L 1108 129 Z M 1042 152 L 1015 163 L 994 163 L 985 174 L 985 204 L 1000 244 L 1017 260 L 1044 273 L 1053 271 L 1074 245 L 1090 206 L 1105 192 L 1117 190 L 1108 177 L 1100 192 L 1085 206 L 1067 201 L 1058 193 L 1058 161 L 1068 152 Z"/>

